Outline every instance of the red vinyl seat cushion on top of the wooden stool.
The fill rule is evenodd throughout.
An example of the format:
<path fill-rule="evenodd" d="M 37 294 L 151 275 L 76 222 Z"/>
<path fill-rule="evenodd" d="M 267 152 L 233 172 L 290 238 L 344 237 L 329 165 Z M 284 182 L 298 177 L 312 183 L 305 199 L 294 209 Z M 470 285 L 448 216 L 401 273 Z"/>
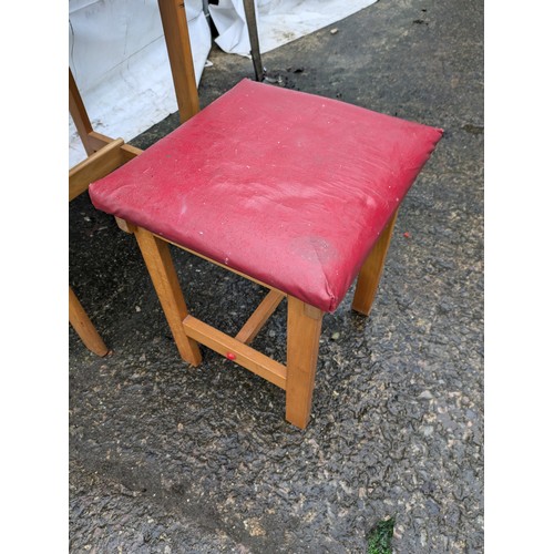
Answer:
<path fill-rule="evenodd" d="M 89 191 L 99 209 L 334 311 L 441 135 L 244 80 Z"/>

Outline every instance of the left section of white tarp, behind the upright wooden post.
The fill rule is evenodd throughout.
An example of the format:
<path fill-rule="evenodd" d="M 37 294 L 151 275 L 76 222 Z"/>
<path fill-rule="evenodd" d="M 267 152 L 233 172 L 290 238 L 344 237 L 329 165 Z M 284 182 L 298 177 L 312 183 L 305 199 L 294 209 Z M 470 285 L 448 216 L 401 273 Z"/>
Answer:
<path fill-rule="evenodd" d="M 129 141 L 177 110 L 157 0 L 70 0 L 69 65 L 99 133 Z M 212 47 L 202 0 L 186 0 L 196 82 Z M 70 117 L 70 167 L 85 157 Z"/>

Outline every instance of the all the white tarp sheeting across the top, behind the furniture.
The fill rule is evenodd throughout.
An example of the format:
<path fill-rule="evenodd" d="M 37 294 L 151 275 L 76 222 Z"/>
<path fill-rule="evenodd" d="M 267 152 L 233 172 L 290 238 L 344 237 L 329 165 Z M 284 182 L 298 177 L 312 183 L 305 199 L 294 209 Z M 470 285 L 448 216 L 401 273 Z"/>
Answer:
<path fill-rule="evenodd" d="M 256 0 L 260 51 L 339 21 L 377 0 Z M 205 2 L 207 4 L 207 2 Z M 203 0 L 185 0 L 199 82 L 212 37 Z M 209 4 L 222 50 L 247 55 L 243 0 Z M 157 0 L 69 0 L 69 65 L 95 131 L 130 141 L 177 111 Z M 85 157 L 70 117 L 70 167 Z"/>

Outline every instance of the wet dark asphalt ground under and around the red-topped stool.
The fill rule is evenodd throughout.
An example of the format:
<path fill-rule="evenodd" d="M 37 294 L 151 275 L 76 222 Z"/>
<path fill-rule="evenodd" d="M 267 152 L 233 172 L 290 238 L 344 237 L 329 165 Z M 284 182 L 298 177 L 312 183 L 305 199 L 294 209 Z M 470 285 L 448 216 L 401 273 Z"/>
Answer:
<path fill-rule="evenodd" d="M 246 59 L 211 60 L 202 106 L 254 78 Z M 401 206 L 369 319 L 352 289 L 324 318 L 305 431 L 247 370 L 208 350 L 182 362 L 133 237 L 86 194 L 71 203 L 70 284 L 113 352 L 70 329 L 69 550 L 363 553 L 391 517 L 393 552 L 483 552 L 483 6 L 380 1 L 263 62 L 275 86 L 444 136 Z M 236 332 L 263 290 L 173 254 L 191 311 Z M 280 361 L 285 316 L 254 345 Z"/>

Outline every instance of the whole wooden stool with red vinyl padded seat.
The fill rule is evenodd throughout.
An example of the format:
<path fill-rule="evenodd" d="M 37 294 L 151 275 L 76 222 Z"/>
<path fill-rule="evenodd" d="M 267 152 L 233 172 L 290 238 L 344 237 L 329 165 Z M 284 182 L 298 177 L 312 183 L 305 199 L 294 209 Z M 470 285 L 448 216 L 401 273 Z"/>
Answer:
<path fill-rule="evenodd" d="M 138 242 L 184 360 L 198 342 L 286 391 L 309 420 L 321 319 L 359 274 L 369 314 L 397 209 L 442 131 L 342 102 L 242 81 L 90 186 Z M 168 243 L 269 289 L 236 337 L 188 314 Z M 248 346 L 287 297 L 287 363 Z"/>

